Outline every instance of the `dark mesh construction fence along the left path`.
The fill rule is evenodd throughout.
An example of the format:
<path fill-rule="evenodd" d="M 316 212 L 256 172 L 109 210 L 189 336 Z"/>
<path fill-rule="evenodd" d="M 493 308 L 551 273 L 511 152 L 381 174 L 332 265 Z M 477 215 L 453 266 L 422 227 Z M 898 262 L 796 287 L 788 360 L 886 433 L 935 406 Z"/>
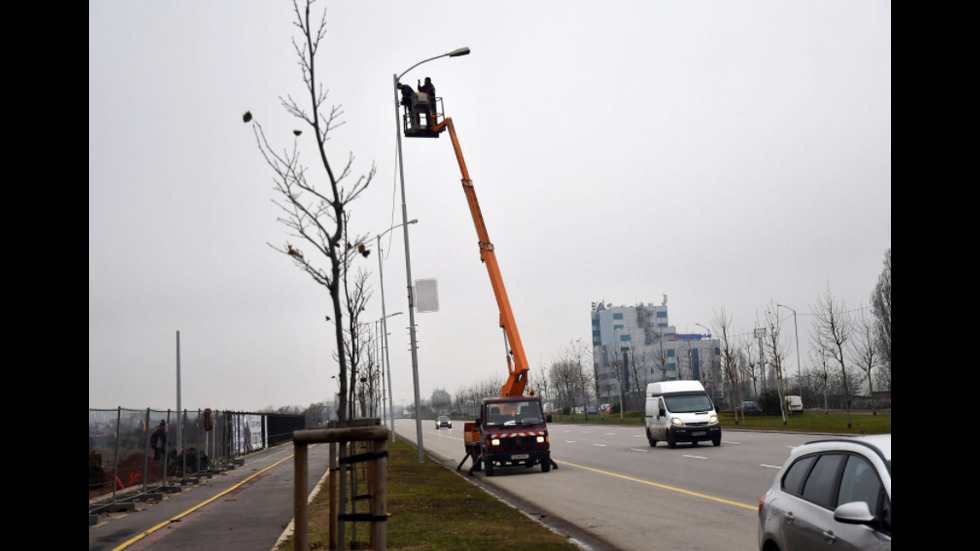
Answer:
<path fill-rule="evenodd" d="M 89 409 L 89 502 L 155 498 L 292 440 L 302 415 Z"/>

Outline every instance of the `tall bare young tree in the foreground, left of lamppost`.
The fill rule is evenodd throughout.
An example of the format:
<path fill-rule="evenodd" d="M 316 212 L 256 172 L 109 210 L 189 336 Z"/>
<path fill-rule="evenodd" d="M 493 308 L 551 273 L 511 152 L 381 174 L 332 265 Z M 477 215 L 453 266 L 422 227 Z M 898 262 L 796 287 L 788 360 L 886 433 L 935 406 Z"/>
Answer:
<path fill-rule="evenodd" d="M 318 163 L 322 173 L 314 178 L 313 174 L 307 171 L 307 166 L 300 160 L 298 141 L 302 131 L 293 132 L 295 136 L 293 137 L 292 150 L 279 152 L 270 145 L 261 124 L 251 112 L 246 112 L 243 120 L 246 123 L 251 122 L 259 150 L 275 174 L 274 190 L 278 193 L 279 200 L 274 200 L 274 203 L 282 210 L 279 221 L 290 230 L 293 237 L 305 242 L 317 253 L 310 254 L 307 252 L 304 254 L 299 249 L 299 245 L 294 248 L 293 244 L 288 241 L 282 246 L 270 244 L 275 250 L 289 256 L 296 266 L 309 274 L 316 283 L 324 286 L 330 293 L 330 300 L 333 303 L 332 321 L 337 350 L 336 359 L 341 385 L 338 418 L 343 422 L 348 419 L 348 364 L 344 348 L 343 301 L 340 297 L 340 282 L 343 277 L 342 274 L 350 267 L 354 258 L 354 255 L 350 255 L 348 252 L 356 249 L 361 254 L 367 255 L 367 249 L 364 246 L 365 240 L 363 238 L 351 239 L 346 233 L 348 205 L 368 187 L 374 177 L 375 168 L 372 165 L 368 174 L 358 177 L 353 182 L 348 182 L 354 160 L 353 154 L 348 156 L 347 163 L 342 166 L 339 172 L 328 160 L 327 136 L 341 124 L 342 111 L 339 106 L 333 106 L 329 111 L 324 111 L 327 92 L 317 79 L 315 61 L 321 40 L 327 32 L 326 11 L 324 10 L 319 24 L 314 28 L 313 25 L 316 23 L 310 19 L 310 6 L 312 4 L 313 0 L 308 0 L 305 2 L 304 9 L 301 10 L 295 1 L 293 3 L 296 15 L 294 24 L 301 34 L 299 42 L 293 40 L 293 47 L 299 58 L 305 91 L 309 94 L 310 109 L 307 110 L 302 107 L 291 96 L 280 97 L 279 99 L 289 114 L 312 129 L 312 132 L 307 136 L 312 135 L 316 141 Z M 323 179 L 322 183 L 319 182 L 321 179 Z M 348 243 L 350 246 L 347 246 Z M 322 265 L 324 260 L 326 266 Z M 330 317 L 328 316 L 328 321 Z"/>

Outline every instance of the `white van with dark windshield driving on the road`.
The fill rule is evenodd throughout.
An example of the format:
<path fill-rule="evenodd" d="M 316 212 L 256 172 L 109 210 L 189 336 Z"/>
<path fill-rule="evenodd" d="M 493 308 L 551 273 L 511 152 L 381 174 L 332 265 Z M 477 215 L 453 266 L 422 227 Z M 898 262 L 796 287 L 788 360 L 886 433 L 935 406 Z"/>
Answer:
<path fill-rule="evenodd" d="M 656 446 L 666 440 L 678 442 L 711 440 L 721 445 L 721 423 L 711 398 L 699 381 L 664 381 L 647 385 L 647 440 Z"/>

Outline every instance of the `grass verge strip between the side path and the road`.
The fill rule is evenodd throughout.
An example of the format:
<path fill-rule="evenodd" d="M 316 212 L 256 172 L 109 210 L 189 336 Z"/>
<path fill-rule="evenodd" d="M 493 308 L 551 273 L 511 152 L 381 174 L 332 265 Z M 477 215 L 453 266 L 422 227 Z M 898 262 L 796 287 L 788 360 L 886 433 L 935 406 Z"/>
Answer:
<path fill-rule="evenodd" d="M 324 485 L 309 505 L 310 549 L 329 549 L 328 494 Z M 366 512 L 366 508 L 358 505 L 358 512 Z M 429 457 L 419 464 L 418 450 L 404 439 L 388 443 L 388 512 L 387 549 L 581 551 L 565 536 Z M 346 539 L 363 547 L 348 543 L 346 548 L 368 549 L 368 528 L 368 524 L 358 523 L 356 535 L 351 537 L 354 528 L 347 523 Z M 515 538 L 515 534 L 521 537 Z M 293 539 L 280 550 L 293 551 Z"/>

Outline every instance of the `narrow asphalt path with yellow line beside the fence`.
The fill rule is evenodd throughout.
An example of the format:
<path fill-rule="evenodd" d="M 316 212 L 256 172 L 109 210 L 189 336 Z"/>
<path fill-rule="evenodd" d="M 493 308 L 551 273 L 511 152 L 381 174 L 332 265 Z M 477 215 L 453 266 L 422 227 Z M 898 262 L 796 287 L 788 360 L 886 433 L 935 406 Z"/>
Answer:
<path fill-rule="evenodd" d="M 309 448 L 309 492 L 327 471 L 327 452 L 326 445 Z M 269 551 L 291 525 L 293 481 L 291 442 L 251 454 L 242 466 L 160 501 L 100 515 L 89 526 L 89 551 Z"/>

